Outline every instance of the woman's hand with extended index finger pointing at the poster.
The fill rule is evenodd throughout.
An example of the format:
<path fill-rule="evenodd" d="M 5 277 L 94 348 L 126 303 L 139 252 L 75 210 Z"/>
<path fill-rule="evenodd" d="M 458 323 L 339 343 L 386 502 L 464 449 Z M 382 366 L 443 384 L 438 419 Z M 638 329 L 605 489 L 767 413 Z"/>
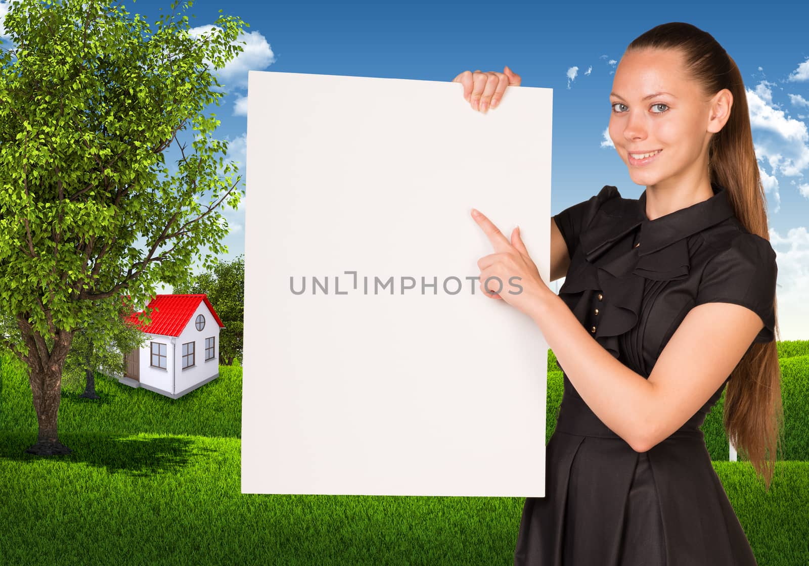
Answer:
<path fill-rule="evenodd" d="M 480 211 L 472 209 L 472 218 L 481 226 L 494 247 L 493 254 L 477 260 L 477 267 L 481 269 L 481 291 L 489 298 L 502 299 L 530 315 L 530 310 L 536 306 L 536 300 L 543 293 L 550 292 L 550 289 L 542 281 L 531 256 L 528 256 L 525 244 L 519 237 L 519 226 L 511 232 L 509 242 L 498 227 Z"/>

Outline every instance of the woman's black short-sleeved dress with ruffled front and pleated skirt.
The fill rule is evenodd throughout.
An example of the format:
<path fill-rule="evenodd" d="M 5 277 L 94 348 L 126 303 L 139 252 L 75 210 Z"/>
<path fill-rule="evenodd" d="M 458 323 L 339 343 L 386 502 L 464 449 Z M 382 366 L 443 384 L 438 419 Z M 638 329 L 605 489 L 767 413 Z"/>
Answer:
<path fill-rule="evenodd" d="M 705 302 L 747 306 L 765 324 L 754 342 L 774 340 L 775 251 L 744 229 L 726 189 L 712 188 L 708 200 L 650 221 L 646 191 L 625 199 L 608 185 L 554 217 L 571 256 L 559 297 L 644 378 L 688 310 Z M 563 380 L 546 496 L 525 501 L 515 566 L 756 564 L 700 430 L 726 383 L 638 453 Z"/>

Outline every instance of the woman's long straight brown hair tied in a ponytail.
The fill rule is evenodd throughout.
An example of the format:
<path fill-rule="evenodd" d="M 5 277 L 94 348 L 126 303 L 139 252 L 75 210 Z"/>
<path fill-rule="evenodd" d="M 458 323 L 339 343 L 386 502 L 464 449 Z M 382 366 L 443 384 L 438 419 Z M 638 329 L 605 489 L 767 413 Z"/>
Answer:
<path fill-rule="evenodd" d="M 747 95 L 739 67 L 708 32 L 690 23 L 663 23 L 638 36 L 627 52 L 676 49 L 684 55 L 685 71 L 706 97 L 726 88 L 733 95 L 731 115 L 710 139 L 711 182 L 727 190 L 736 218 L 752 234 L 769 240 L 767 201 L 753 150 Z M 777 302 L 773 306 L 777 312 Z M 777 315 L 776 340 L 780 339 Z M 783 434 L 781 367 L 775 340 L 752 344 L 731 372 L 725 391 L 724 425 L 739 455 L 748 458 L 769 491 Z"/>

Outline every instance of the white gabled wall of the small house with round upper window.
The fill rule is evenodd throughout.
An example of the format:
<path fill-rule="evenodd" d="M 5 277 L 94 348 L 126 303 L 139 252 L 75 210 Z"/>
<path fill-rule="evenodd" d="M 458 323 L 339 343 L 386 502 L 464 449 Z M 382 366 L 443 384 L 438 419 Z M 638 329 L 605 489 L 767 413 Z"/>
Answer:
<path fill-rule="evenodd" d="M 205 317 L 205 327 L 197 330 L 197 315 Z M 214 357 L 205 361 L 205 338 L 214 336 Z M 183 344 L 194 342 L 194 365 L 183 369 Z M 188 320 L 183 332 L 177 336 L 176 359 L 174 361 L 176 382 L 172 393 L 180 393 L 188 387 L 204 382 L 219 373 L 219 325 L 205 301 L 200 301 L 197 310 Z"/>

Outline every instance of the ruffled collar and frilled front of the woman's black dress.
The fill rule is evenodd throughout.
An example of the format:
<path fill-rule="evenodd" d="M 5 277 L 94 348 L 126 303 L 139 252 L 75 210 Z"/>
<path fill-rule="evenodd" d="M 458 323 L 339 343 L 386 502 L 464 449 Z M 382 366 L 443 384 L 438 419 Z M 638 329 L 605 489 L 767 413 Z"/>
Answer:
<path fill-rule="evenodd" d="M 638 199 L 625 199 L 609 187 L 608 198 L 582 230 L 580 251 L 574 254 L 578 258 L 571 262 L 559 296 L 590 331 L 592 295 L 602 294 L 592 336 L 612 356 L 619 357 L 618 336 L 637 324 L 646 280 L 688 277 L 688 236 L 734 215 L 726 189 L 718 184 L 711 188 L 714 196 L 709 199 L 650 220 L 646 190 Z"/>

